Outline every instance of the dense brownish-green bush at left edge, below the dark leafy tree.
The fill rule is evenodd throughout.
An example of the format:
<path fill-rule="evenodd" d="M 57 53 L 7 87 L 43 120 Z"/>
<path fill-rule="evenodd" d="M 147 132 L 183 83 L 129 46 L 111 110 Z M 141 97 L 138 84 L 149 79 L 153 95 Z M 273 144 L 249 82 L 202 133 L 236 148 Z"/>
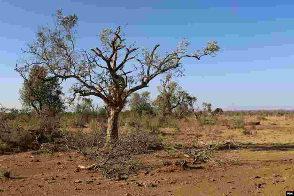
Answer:
<path fill-rule="evenodd" d="M 26 110 L 13 110 L 4 117 L 0 122 L 2 152 L 36 150 L 59 130 L 60 115 L 39 116 Z"/>

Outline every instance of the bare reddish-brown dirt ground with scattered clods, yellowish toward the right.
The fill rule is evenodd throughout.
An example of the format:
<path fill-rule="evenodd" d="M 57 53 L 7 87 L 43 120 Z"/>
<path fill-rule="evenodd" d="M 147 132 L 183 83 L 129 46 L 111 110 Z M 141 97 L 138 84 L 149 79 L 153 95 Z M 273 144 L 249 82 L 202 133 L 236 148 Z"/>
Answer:
<path fill-rule="evenodd" d="M 246 120 L 255 119 L 248 117 Z M 161 150 L 141 155 L 139 159 L 143 165 L 152 170 L 148 173 L 141 170 L 123 180 L 103 179 L 99 171 L 78 170 L 78 165 L 93 162 L 77 152 L 1 155 L 0 170 L 11 170 L 16 178 L 0 179 L 0 195 L 278 196 L 285 195 L 285 191 L 294 191 L 293 120 L 269 117 L 261 120 L 260 125 L 248 127 L 252 129 L 251 135 L 220 125 L 198 131 L 191 127 L 191 124 L 181 122 L 178 133 L 163 138 L 189 146 L 198 136 L 200 144 L 233 141 L 242 143 L 242 147 L 218 151 L 214 159 L 224 161 L 223 164 L 207 162 L 193 167 L 162 165 L 163 160 L 185 158 L 177 152 L 168 154 Z M 144 186 L 149 182 L 155 186 Z"/>

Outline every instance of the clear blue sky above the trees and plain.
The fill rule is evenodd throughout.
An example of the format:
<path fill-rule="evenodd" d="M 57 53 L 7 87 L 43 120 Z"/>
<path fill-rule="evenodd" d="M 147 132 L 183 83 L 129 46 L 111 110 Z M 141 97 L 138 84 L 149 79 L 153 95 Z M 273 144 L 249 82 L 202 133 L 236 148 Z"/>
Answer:
<path fill-rule="evenodd" d="M 14 66 L 38 26 L 52 14 L 78 15 L 78 47 L 99 47 L 103 28 L 122 26 L 129 42 L 173 51 L 183 37 L 189 52 L 217 41 L 222 51 L 183 61 L 186 76 L 175 78 L 202 102 L 224 110 L 294 109 L 293 1 L 0 1 L 0 103 L 20 108 L 22 78 Z M 124 24 L 127 23 L 127 26 Z M 159 48 L 158 48 L 159 49 Z M 157 95 L 160 76 L 143 91 Z M 64 86 L 68 91 L 72 81 Z M 102 105 L 100 98 L 93 98 Z"/>

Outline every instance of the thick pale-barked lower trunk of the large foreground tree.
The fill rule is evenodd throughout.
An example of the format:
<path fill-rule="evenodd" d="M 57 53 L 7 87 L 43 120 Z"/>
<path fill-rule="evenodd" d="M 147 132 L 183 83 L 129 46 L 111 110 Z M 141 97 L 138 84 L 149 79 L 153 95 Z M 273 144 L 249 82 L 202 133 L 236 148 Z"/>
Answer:
<path fill-rule="evenodd" d="M 119 112 L 117 110 L 110 110 L 107 112 L 108 117 L 108 127 L 106 131 L 106 146 L 112 147 L 112 145 L 118 139 L 118 116 Z"/>

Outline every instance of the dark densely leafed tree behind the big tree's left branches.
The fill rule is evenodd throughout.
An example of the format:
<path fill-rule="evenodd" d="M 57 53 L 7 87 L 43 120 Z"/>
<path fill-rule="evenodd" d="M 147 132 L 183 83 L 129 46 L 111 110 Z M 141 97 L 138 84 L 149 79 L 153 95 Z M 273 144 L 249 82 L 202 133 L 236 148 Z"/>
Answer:
<path fill-rule="evenodd" d="M 29 77 L 23 76 L 24 82 L 19 89 L 19 100 L 22 107 L 34 108 L 38 115 L 54 116 L 66 109 L 62 99 L 64 93 L 57 78 L 43 81 L 46 78 L 46 69 L 40 65 L 34 65 L 29 69 Z"/>

